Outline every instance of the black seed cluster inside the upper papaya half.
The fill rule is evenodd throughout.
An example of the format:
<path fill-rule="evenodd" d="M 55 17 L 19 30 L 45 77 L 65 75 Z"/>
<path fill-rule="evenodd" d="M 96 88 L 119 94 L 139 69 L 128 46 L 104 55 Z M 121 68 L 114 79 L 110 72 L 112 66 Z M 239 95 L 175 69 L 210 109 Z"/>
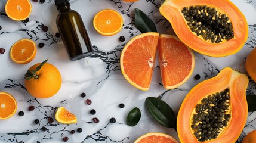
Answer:
<path fill-rule="evenodd" d="M 181 10 L 187 26 L 205 41 L 220 43 L 234 38 L 232 23 L 226 14 L 206 5 L 184 7 Z"/>

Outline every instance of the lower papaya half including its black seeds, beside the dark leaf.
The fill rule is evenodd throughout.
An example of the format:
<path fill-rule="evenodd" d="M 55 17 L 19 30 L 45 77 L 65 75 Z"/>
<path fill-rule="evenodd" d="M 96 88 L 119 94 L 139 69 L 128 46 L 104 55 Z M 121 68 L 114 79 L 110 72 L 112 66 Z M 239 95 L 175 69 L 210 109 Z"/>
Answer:
<path fill-rule="evenodd" d="M 249 79 L 230 67 L 192 88 L 178 111 L 181 143 L 236 142 L 248 116 Z"/>

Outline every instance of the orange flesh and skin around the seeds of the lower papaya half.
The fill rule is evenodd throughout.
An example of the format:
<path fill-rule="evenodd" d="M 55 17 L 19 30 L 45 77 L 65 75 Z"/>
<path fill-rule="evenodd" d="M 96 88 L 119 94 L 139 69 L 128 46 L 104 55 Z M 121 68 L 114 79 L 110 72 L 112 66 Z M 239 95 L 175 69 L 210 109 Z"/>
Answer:
<path fill-rule="evenodd" d="M 245 95 L 248 83 L 249 79 L 245 74 L 241 74 L 230 67 L 225 67 L 217 76 L 204 80 L 192 88 L 186 95 L 186 98 L 184 98 L 180 110 L 178 111 L 177 132 L 180 142 L 199 142 L 190 128 L 192 122 L 190 119 L 193 110 L 202 98 L 215 92 L 223 91 L 226 88 L 229 88 L 230 91 L 231 117 L 229 123 L 216 139 L 207 140 L 205 142 L 236 142 L 245 126 L 248 116 L 248 106 Z"/>

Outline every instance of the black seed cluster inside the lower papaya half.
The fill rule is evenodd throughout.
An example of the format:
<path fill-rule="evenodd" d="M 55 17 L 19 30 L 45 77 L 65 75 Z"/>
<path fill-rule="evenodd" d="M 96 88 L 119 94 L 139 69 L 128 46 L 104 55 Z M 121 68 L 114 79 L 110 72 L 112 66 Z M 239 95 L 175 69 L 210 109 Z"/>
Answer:
<path fill-rule="evenodd" d="M 195 107 L 191 128 L 200 142 L 215 139 L 230 119 L 229 89 L 208 95 Z"/>

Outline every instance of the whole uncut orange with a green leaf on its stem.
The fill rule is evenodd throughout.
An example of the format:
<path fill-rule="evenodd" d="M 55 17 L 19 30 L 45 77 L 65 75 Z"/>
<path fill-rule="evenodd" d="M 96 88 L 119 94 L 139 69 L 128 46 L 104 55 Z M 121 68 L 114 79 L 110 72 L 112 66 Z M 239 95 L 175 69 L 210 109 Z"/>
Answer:
<path fill-rule="evenodd" d="M 24 76 L 25 87 L 33 97 L 48 98 L 60 89 L 60 71 L 47 61 L 33 65 Z"/>

